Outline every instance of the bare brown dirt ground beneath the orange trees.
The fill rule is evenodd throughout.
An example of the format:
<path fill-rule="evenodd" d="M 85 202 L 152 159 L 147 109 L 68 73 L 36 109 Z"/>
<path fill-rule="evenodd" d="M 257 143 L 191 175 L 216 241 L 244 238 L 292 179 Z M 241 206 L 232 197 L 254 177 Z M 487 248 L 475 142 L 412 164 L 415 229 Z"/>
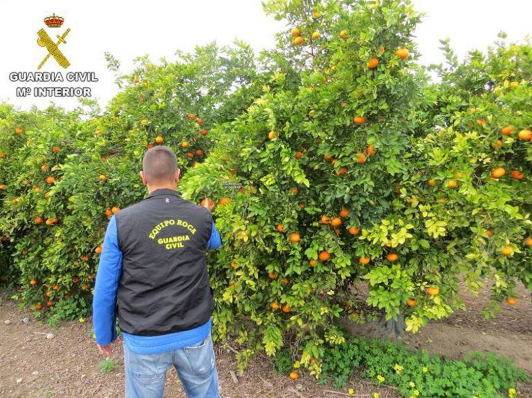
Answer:
<path fill-rule="evenodd" d="M 416 335 L 400 337 L 415 348 L 426 348 L 452 358 L 460 358 L 471 350 L 494 351 L 516 360 L 518 366 L 532 372 L 532 302 L 530 294 L 520 291 L 522 299 L 515 306 L 504 305 L 497 318 L 485 321 L 480 314 L 487 302 L 487 291 L 480 297 L 464 294 L 468 311 L 433 322 Z M 20 311 L 11 301 L 0 301 L 0 397 L 122 397 L 122 345 L 115 344 L 112 358 L 118 363 L 110 373 L 103 373 L 98 364 L 103 359 L 92 339 L 91 320 L 64 322 L 59 329 L 22 319 L 30 312 Z M 10 323 L 6 324 L 5 321 Z M 355 335 L 383 336 L 375 324 L 349 325 Z M 46 333 L 54 338 L 47 339 Z M 375 385 L 354 376 L 346 388 L 334 390 L 320 385 L 312 377 L 293 381 L 274 373 L 268 360 L 257 356 L 235 383 L 234 353 L 216 346 L 217 366 L 222 398 L 336 398 L 345 396 L 398 398 L 391 387 Z M 353 388 L 354 395 L 348 395 Z M 173 369 L 167 374 L 165 397 L 185 397 Z M 519 397 L 532 397 L 532 383 L 518 386 Z"/>

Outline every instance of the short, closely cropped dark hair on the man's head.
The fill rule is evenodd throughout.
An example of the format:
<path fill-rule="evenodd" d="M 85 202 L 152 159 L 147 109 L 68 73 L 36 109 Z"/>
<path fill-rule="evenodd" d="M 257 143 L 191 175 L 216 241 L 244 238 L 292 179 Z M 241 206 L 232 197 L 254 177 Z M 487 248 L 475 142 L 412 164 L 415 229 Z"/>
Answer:
<path fill-rule="evenodd" d="M 168 146 L 155 146 L 144 154 L 142 168 L 148 183 L 173 181 L 177 170 L 176 154 Z"/>

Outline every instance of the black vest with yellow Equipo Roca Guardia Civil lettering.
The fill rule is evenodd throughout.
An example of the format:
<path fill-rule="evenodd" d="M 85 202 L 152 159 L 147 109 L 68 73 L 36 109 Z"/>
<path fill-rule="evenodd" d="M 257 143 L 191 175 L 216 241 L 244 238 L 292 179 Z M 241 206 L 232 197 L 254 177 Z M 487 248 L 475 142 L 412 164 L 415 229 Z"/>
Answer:
<path fill-rule="evenodd" d="M 205 255 L 211 214 L 172 189 L 157 189 L 115 218 L 120 329 L 157 336 L 207 322 L 214 309 Z"/>

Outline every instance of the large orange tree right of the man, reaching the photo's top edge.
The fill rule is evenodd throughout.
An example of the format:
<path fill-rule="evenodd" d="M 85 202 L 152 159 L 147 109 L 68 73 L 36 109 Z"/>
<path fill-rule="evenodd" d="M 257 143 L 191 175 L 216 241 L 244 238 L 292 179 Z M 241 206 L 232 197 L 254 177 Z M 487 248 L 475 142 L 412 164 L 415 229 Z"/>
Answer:
<path fill-rule="evenodd" d="M 531 287 L 530 47 L 473 52 L 428 85 L 409 2 L 265 8 L 289 22 L 262 54 L 277 72 L 181 185 L 218 201 L 218 337 L 247 343 L 241 360 L 293 344 L 318 374 L 343 314 L 417 331 L 463 308 L 461 280 L 474 292 L 488 276 L 487 314 L 513 304 L 516 277 Z"/>

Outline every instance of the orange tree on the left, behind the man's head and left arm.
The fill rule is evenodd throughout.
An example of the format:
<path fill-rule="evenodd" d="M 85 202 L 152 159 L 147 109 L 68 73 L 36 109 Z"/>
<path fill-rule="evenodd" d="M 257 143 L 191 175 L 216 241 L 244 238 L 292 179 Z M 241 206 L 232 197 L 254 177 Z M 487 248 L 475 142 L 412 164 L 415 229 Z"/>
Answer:
<path fill-rule="evenodd" d="M 145 195 L 146 148 L 171 146 L 184 172 L 202 161 L 213 124 L 241 113 L 260 87 L 254 76 L 249 47 L 208 45 L 175 63 L 140 59 L 103 114 L 92 102 L 72 112 L 3 106 L 1 261 L 18 275 L 21 303 L 48 305 L 56 318 L 86 313 L 107 220 Z"/>

